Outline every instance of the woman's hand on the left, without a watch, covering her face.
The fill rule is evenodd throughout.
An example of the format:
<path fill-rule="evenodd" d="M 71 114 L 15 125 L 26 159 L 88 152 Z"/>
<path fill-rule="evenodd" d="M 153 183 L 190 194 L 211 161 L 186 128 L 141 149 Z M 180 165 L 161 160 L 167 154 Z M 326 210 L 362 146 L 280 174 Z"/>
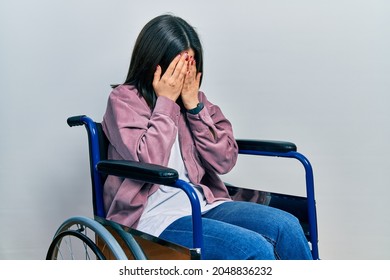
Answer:
<path fill-rule="evenodd" d="M 183 89 L 188 62 L 188 53 L 177 55 L 162 76 L 161 67 L 157 66 L 152 83 L 157 96 L 164 96 L 176 102 Z"/>

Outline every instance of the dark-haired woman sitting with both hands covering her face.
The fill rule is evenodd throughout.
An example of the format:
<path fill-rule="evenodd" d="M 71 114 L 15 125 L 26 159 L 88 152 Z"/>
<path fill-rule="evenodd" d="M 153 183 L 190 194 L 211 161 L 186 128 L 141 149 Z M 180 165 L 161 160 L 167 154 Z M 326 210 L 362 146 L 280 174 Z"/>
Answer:
<path fill-rule="evenodd" d="M 103 117 L 111 159 L 178 170 L 201 200 L 204 259 L 310 259 L 295 217 L 233 202 L 218 174 L 236 163 L 231 123 L 199 91 L 203 51 L 194 28 L 172 15 L 152 19 L 134 46 L 127 79 Z M 179 189 L 109 176 L 107 218 L 191 247 L 190 204 Z"/>

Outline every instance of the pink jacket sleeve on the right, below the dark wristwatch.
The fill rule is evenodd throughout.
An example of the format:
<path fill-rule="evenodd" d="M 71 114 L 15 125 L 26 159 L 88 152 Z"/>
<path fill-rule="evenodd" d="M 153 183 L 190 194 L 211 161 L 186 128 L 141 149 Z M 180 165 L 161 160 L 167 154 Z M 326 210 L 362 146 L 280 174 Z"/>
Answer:
<path fill-rule="evenodd" d="M 204 108 L 196 115 L 187 113 L 196 150 L 207 169 L 225 174 L 234 167 L 238 157 L 232 125 L 202 92 L 199 98 Z"/>

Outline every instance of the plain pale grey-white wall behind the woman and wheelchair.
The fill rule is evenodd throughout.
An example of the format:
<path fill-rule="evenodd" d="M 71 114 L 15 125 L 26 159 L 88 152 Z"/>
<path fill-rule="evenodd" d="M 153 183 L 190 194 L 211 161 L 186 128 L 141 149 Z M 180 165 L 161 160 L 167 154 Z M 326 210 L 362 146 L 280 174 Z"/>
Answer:
<path fill-rule="evenodd" d="M 385 0 L 2 0 L 0 259 L 43 259 L 63 220 L 92 215 L 86 133 L 66 118 L 101 120 L 138 32 L 166 12 L 197 28 L 202 89 L 236 137 L 293 141 L 311 160 L 321 258 L 389 259 Z M 301 194 L 302 176 L 243 159 L 226 177 Z"/>

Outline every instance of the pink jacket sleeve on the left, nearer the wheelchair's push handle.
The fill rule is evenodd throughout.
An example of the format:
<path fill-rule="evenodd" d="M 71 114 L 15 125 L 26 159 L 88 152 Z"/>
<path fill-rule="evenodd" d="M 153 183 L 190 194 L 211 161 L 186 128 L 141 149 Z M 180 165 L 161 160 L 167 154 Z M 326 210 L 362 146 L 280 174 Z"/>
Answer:
<path fill-rule="evenodd" d="M 166 165 L 177 133 L 179 106 L 164 97 L 153 111 L 135 90 L 113 90 L 103 129 L 122 159 Z"/>

